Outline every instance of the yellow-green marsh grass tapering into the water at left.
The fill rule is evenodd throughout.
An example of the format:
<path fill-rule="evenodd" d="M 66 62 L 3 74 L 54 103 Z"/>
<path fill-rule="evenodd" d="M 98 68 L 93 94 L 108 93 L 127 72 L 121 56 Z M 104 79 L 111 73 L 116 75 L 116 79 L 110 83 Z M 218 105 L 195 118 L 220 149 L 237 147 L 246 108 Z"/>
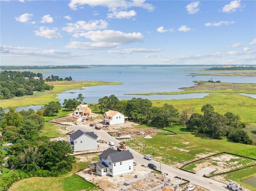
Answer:
<path fill-rule="evenodd" d="M 56 98 L 58 93 L 70 89 L 78 89 L 81 87 L 99 86 L 99 85 L 121 85 L 117 82 L 103 82 L 103 81 L 59 81 L 59 82 L 47 82 L 49 85 L 54 85 L 54 89 L 51 91 L 44 91 L 36 93 L 35 95 L 22 96 L 12 99 L 0 100 L 2 108 L 22 107 L 30 105 L 45 105 L 50 101 L 59 101 Z"/>

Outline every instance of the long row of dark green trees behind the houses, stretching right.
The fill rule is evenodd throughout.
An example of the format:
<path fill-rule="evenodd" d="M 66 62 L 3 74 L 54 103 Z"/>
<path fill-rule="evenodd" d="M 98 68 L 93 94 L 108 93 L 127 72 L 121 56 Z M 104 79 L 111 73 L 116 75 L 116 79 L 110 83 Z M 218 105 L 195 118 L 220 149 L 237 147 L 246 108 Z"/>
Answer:
<path fill-rule="evenodd" d="M 116 110 L 128 116 L 135 122 L 149 123 L 158 128 L 170 127 L 172 122 L 185 125 L 191 132 L 210 134 L 214 139 L 228 137 L 238 143 L 253 144 L 248 133 L 244 130 L 246 124 L 241 122 L 239 115 L 227 112 L 224 115 L 214 112 L 210 104 L 202 106 L 203 114 L 185 109 L 181 113 L 171 104 L 161 107 L 152 106 L 148 99 L 132 98 L 118 100 L 115 95 L 104 96 L 98 100 L 101 112 Z M 192 112 L 192 114 L 191 114 Z"/>

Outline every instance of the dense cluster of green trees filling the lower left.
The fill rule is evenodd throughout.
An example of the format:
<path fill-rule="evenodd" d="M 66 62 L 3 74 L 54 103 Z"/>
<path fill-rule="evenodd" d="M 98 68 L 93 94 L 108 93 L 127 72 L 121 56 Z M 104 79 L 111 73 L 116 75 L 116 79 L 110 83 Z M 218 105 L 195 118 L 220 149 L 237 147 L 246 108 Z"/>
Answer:
<path fill-rule="evenodd" d="M 9 187 L 18 179 L 32 176 L 58 176 L 67 173 L 75 163 L 73 150 L 66 141 L 50 142 L 46 136 L 40 135 L 44 128 L 44 118 L 34 110 L 17 112 L 10 108 L 4 113 L 1 109 L 0 131 L 2 141 L 10 141 L 14 145 L 8 150 L 10 167 L 19 169 L 18 177 L 1 178 L 1 186 Z M 4 163 L 1 150 L 0 168 Z"/>

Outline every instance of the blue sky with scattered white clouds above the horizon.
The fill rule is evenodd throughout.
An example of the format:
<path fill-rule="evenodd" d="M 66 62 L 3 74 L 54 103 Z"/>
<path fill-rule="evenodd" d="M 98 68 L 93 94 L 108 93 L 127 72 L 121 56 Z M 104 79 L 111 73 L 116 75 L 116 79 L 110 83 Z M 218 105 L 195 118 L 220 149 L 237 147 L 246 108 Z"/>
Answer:
<path fill-rule="evenodd" d="M 1 0 L 1 65 L 256 64 L 256 1 Z"/>

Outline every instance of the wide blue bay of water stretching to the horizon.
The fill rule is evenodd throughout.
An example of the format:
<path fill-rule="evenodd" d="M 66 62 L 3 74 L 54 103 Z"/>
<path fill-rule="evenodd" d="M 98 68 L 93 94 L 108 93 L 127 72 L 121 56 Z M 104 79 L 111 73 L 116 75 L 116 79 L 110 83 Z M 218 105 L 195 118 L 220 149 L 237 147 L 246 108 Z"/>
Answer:
<path fill-rule="evenodd" d="M 210 66 L 209 66 L 210 67 Z M 87 103 L 96 103 L 103 96 L 116 95 L 119 99 L 141 97 L 148 99 L 181 99 L 202 98 L 208 93 L 184 95 L 124 95 L 127 93 L 152 93 L 182 91 L 179 88 L 195 85 L 193 81 L 212 80 L 231 83 L 256 83 L 256 77 L 227 77 L 227 76 L 195 76 L 190 73 L 214 73 L 220 71 L 200 71 L 204 67 L 92 67 L 91 69 L 52 69 L 41 70 L 43 76 L 57 75 L 59 77 L 71 76 L 76 81 L 109 81 L 121 82 L 124 85 L 105 85 L 86 87 L 85 91 L 76 91 L 74 94 L 59 94 L 60 103 L 64 99 L 76 98 L 79 93 L 86 97 Z M 31 70 L 33 71 L 33 70 Z M 34 71 L 34 72 L 38 72 Z M 224 72 L 224 71 L 221 71 Z M 233 71 L 225 71 L 233 72 Z M 239 71 L 238 71 L 239 72 Z M 68 91 L 69 92 L 69 91 Z M 256 95 L 249 95 L 256 98 Z M 36 107 L 36 106 L 35 106 Z M 19 110 L 22 108 L 18 108 Z M 27 109 L 27 108 L 26 108 Z M 36 108 L 34 108 L 36 109 Z"/>

